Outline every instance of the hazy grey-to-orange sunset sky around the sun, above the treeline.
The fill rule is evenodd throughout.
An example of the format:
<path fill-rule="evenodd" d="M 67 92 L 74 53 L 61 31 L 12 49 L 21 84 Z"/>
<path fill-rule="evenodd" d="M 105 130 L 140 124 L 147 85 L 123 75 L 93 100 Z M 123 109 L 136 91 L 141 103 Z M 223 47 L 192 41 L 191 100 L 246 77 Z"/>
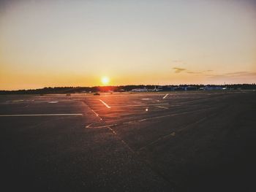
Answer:
<path fill-rule="evenodd" d="M 256 82 L 255 0 L 0 0 L 0 90 Z"/>

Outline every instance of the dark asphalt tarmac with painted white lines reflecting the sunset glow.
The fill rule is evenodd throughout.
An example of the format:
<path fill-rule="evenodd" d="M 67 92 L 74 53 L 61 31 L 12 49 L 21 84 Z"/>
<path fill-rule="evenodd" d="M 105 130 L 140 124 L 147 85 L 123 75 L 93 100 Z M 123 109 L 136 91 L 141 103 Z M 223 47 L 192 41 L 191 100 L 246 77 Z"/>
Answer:
<path fill-rule="evenodd" d="M 256 92 L 0 96 L 1 191 L 255 191 Z"/>

